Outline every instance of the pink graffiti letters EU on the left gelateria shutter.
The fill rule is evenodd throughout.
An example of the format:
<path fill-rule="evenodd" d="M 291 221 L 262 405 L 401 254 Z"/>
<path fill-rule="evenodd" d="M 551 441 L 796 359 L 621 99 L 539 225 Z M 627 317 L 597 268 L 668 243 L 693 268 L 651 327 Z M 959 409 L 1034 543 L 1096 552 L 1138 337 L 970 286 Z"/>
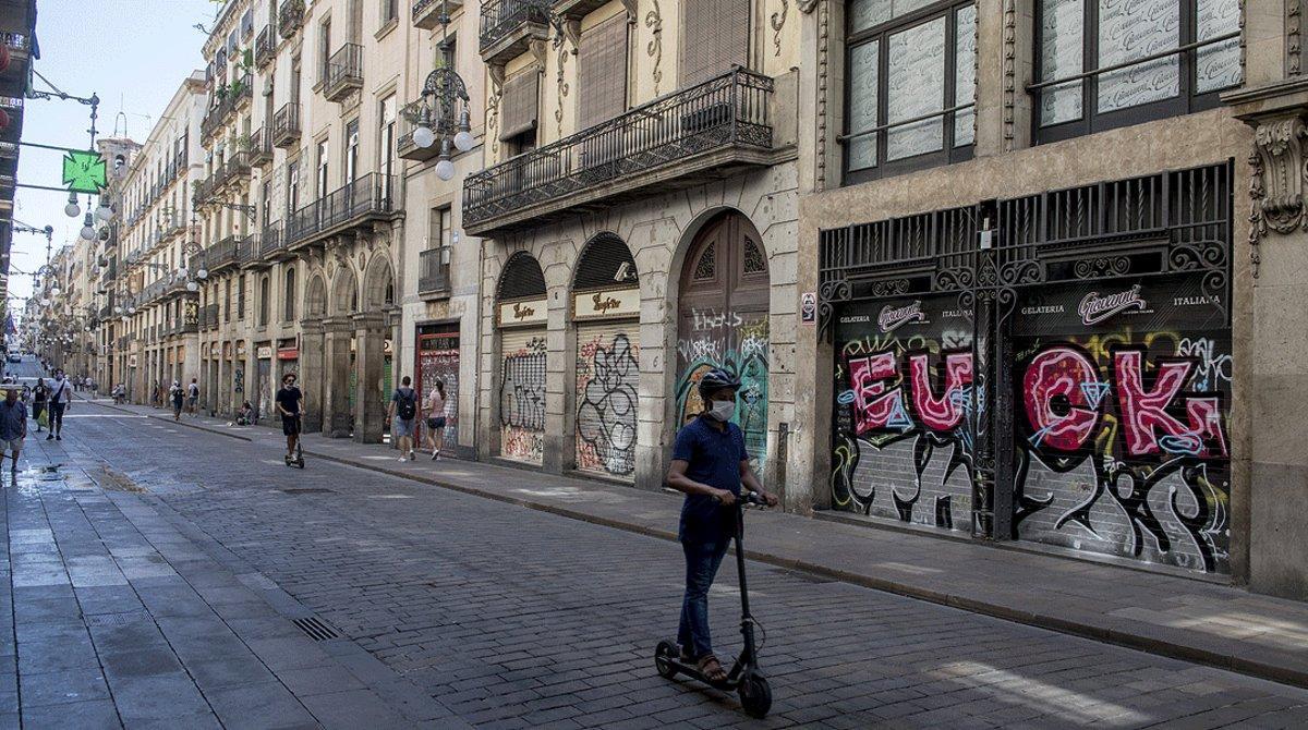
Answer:
<path fill-rule="evenodd" d="M 950 432 L 963 425 L 968 404 L 964 391 L 972 386 L 972 352 L 944 353 L 943 377 L 933 378 L 930 355 L 908 355 L 906 373 L 893 352 L 849 361 L 849 382 L 854 394 L 854 433 L 905 430 L 913 420 L 905 411 L 903 383 L 908 382 L 908 403 L 917 421 L 927 430 Z M 933 385 L 933 379 L 943 383 Z"/>

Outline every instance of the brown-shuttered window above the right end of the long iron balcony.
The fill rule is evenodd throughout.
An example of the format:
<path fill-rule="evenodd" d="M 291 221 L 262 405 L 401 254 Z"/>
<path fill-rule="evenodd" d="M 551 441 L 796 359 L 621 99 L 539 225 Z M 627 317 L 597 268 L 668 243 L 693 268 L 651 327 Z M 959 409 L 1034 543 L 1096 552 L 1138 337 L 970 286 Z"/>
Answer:
<path fill-rule="evenodd" d="M 683 88 L 749 67 L 749 0 L 685 0 L 683 8 Z"/>

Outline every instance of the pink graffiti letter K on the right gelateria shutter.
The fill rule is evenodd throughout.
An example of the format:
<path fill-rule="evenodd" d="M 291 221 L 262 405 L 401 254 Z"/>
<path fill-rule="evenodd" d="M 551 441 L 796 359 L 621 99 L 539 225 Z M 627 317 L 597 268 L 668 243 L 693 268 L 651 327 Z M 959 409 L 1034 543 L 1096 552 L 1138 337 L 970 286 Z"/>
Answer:
<path fill-rule="evenodd" d="M 1138 349 L 1113 352 L 1113 377 L 1117 381 L 1126 453 L 1133 457 L 1160 453 L 1201 458 L 1230 455 L 1222 430 L 1219 398 L 1214 394 L 1181 394 L 1196 361 L 1159 358 L 1152 390 L 1144 390 L 1143 361 L 1144 353 Z M 1168 407 L 1177 399 L 1184 404 L 1188 424 L 1168 413 Z"/>

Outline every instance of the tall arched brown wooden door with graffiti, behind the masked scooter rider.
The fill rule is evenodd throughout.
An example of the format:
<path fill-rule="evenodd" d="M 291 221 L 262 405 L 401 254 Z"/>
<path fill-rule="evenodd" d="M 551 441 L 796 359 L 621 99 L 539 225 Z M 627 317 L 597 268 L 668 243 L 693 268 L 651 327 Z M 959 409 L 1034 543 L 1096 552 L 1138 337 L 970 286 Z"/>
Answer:
<path fill-rule="evenodd" d="M 735 423 L 760 474 L 768 453 L 768 256 L 743 215 L 709 220 L 681 264 L 676 339 L 678 426 L 702 409 L 696 385 L 713 369 L 743 387 Z"/>

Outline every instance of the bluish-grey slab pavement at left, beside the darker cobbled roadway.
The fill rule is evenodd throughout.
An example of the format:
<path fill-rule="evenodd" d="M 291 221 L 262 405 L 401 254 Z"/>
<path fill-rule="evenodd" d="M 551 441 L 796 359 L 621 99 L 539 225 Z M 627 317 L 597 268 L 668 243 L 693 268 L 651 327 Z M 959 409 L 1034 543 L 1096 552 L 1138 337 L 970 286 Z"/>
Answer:
<path fill-rule="evenodd" d="M 103 462 L 37 433 L 24 462 L 0 498 L 0 727 L 467 726 Z"/>

